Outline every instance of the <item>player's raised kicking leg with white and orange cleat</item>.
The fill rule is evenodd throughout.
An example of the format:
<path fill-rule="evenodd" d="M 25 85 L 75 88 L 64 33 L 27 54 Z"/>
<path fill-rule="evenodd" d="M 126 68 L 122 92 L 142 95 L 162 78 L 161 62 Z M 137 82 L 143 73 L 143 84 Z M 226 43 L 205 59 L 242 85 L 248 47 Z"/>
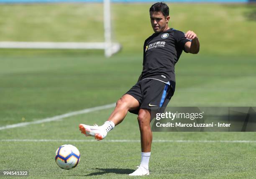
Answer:
<path fill-rule="evenodd" d="M 103 125 L 90 126 L 79 124 L 79 130 L 81 130 L 81 133 L 83 133 L 85 136 L 92 136 L 97 140 L 102 140 L 107 136 L 107 133 L 115 127 L 115 125 L 118 125 L 123 121 L 125 115 L 128 113 L 128 110 L 134 110 L 138 107 L 138 100 L 131 95 L 125 94 L 116 102 L 115 110 L 111 113 L 108 121 L 106 121 Z"/>

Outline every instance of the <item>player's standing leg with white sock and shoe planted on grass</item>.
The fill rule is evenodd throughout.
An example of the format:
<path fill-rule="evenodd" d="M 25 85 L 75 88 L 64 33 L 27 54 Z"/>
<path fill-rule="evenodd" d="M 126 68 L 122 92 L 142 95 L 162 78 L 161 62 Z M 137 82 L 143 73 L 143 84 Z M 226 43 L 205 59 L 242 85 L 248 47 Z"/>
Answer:
<path fill-rule="evenodd" d="M 141 164 L 130 176 L 149 175 L 148 163 L 151 154 L 152 131 L 150 127 L 151 113 L 148 109 L 140 109 L 138 124 L 141 132 Z"/>

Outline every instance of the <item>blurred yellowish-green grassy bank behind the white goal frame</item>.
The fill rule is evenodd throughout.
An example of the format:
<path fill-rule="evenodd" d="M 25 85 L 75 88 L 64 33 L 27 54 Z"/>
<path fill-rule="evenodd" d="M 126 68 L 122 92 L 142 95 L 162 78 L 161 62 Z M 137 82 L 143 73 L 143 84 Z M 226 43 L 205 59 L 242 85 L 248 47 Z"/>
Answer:
<path fill-rule="evenodd" d="M 153 31 L 151 3 L 113 3 L 114 37 L 123 52 L 141 54 Z M 256 5 L 172 3 L 169 26 L 195 31 L 201 54 L 256 55 Z M 0 5 L 0 41 L 103 41 L 102 4 Z M 18 13 L 17 13 L 18 12 Z"/>

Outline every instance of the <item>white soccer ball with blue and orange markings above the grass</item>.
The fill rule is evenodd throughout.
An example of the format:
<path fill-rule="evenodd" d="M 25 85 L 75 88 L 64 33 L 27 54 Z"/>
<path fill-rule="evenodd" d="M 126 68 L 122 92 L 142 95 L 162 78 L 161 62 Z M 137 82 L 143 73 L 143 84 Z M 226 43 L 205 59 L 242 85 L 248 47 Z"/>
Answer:
<path fill-rule="evenodd" d="M 77 166 L 80 159 L 79 150 L 70 144 L 60 146 L 56 151 L 55 161 L 61 169 L 69 170 Z"/>

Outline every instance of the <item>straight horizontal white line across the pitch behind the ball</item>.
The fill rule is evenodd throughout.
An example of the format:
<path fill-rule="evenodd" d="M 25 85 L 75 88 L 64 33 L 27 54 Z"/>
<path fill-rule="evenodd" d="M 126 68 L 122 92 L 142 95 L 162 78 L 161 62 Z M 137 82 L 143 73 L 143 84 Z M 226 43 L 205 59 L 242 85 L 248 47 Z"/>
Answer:
<path fill-rule="evenodd" d="M 140 140 L 72 140 L 72 139 L 0 139 L 0 142 L 140 142 Z M 153 140 L 165 143 L 256 143 L 256 141 L 191 141 L 191 140 Z"/>

